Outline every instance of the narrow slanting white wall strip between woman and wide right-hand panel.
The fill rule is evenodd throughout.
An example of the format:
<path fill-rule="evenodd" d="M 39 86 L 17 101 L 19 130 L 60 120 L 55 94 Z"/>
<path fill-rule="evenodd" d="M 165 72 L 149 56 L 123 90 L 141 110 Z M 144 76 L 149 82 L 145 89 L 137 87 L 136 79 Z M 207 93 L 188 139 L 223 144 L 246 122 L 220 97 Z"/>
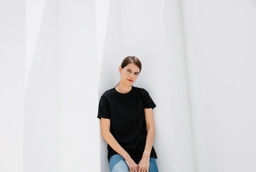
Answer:
<path fill-rule="evenodd" d="M 181 13 L 179 0 L 165 0 L 163 18 L 170 82 L 170 110 L 175 145 L 175 171 L 195 172 L 195 152 Z"/>

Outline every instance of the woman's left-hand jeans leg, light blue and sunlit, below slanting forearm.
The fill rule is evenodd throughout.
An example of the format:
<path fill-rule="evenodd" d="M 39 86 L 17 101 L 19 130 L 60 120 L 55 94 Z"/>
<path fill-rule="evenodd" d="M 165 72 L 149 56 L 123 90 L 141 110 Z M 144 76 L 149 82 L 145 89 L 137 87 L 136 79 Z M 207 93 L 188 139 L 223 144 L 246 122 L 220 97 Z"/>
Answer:
<path fill-rule="evenodd" d="M 110 157 L 109 168 L 110 172 L 129 172 L 129 168 L 124 158 L 119 154 Z"/>

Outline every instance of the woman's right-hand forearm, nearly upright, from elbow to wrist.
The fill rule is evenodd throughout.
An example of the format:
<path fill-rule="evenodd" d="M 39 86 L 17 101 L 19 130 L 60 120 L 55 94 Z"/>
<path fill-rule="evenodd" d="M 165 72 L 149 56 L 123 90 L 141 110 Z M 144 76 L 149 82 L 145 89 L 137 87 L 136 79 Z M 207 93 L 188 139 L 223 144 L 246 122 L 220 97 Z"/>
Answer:
<path fill-rule="evenodd" d="M 147 130 L 146 145 L 142 157 L 150 158 L 153 142 L 155 138 L 155 128 L 150 127 Z"/>

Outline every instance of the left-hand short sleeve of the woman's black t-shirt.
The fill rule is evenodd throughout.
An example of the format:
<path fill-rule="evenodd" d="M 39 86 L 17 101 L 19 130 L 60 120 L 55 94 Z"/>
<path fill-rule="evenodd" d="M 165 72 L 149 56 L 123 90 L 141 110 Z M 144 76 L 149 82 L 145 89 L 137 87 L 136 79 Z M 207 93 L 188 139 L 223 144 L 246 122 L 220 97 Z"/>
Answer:
<path fill-rule="evenodd" d="M 105 95 L 102 95 L 100 97 L 100 102 L 99 102 L 99 109 L 98 109 L 98 116 L 99 119 L 101 118 L 110 118 L 110 109 L 109 109 L 109 102 L 108 98 Z"/>

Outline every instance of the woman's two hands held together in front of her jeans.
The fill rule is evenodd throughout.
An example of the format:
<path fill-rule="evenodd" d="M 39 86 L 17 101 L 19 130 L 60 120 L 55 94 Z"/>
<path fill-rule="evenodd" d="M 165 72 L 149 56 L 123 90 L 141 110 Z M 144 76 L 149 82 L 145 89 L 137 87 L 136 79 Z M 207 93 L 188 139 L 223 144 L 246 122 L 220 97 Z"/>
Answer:
<path fill-rule="evenodd" d="M 129 158 L 129 160 L 125 160 L 125 162 L 128 165 L 129 172 L 148 172 L 150 166 L 150 157 L 142 156 L 138 165 L 131 158 Z"/>

